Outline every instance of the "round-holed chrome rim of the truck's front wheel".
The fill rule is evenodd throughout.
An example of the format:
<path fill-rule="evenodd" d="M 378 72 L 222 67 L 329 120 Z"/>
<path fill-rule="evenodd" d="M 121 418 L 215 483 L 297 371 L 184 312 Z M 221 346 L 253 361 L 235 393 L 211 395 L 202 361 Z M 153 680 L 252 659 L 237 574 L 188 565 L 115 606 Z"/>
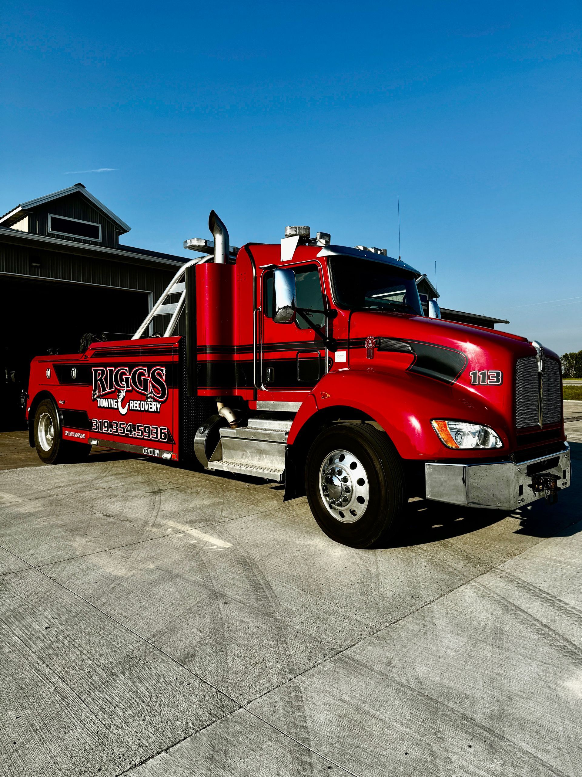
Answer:
<path fill-rule="evenodd" d="M 331 451 L 320 466 L 319 492 L 336 521 L 353 524 L 368 507 L 368 473 L 349 451 Z"/>

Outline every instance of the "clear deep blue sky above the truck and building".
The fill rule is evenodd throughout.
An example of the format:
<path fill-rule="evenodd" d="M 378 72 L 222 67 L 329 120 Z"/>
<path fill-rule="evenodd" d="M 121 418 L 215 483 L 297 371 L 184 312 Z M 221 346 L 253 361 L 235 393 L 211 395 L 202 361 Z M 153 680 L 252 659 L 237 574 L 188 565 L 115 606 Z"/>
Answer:
<path fill-rule="evenodd" d="M 185 255 L 286 224 L 386 247 L 444 307 L 582 348 L 577 2 L 4 9 L 0 212 L 81 181 Z M 105 170 L 103 170 L 105 169 Z M 77 172 L 102 170 L 102 172 Z"/>

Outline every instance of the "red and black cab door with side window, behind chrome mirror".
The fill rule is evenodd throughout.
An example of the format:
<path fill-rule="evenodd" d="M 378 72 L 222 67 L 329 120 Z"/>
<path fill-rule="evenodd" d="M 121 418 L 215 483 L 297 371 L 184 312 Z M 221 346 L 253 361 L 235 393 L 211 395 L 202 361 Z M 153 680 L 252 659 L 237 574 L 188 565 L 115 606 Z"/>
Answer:
<path fill-rule="evenodd" d="M 273 321 L 273 270 L 262 276 L 259 357 L 264 390 L 258 392 L 258 399 L 268 395 L 293 401 L 291 393 L 310 392 L 327 371 L 325 346 L 317 333 L 317 329 L 324 332 L 326 322 L 320 267 L 308 263 L 286 269 L 293 270 L 296 278 L 297 313 L 291 323 Z M 281 396 L 275 398 L 275 393 Z"/>

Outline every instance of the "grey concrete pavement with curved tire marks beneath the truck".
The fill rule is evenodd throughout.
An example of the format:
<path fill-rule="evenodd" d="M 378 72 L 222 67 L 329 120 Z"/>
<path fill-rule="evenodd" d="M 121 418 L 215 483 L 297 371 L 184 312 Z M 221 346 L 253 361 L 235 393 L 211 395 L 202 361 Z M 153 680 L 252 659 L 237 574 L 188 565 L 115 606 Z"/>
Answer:
<path fill-rule="evenodd" d="M 417 500 L 374 551 L 278 486 L 0 472 L 0 773 L 579 775 L 572 448 L 556 507 Z"/>

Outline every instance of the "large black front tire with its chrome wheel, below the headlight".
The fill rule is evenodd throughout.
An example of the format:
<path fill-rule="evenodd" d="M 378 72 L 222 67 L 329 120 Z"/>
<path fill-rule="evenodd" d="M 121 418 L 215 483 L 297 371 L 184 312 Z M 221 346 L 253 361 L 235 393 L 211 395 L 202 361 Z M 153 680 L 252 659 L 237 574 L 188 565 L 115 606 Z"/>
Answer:
<path fill-rule="evenodd" d="M 328 537 L 369 548 L 400 528 L 404 471 L 389 437 L 367 423 L 338 423 L 316 437 L 307 455 L 311 512 Z"/>

